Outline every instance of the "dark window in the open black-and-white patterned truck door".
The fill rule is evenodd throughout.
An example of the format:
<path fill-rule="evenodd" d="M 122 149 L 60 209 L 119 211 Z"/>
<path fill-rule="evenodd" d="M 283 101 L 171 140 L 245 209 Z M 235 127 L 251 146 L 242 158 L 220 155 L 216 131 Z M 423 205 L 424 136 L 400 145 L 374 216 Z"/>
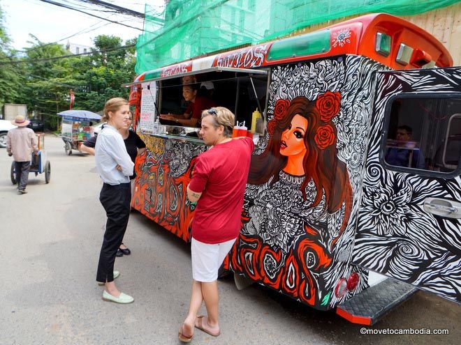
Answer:
<path fill-rule="evenodd" d="M 387 108 L 389 169 L 455 174 L 461 157 L 461 98 L 402 93 Z"/>

